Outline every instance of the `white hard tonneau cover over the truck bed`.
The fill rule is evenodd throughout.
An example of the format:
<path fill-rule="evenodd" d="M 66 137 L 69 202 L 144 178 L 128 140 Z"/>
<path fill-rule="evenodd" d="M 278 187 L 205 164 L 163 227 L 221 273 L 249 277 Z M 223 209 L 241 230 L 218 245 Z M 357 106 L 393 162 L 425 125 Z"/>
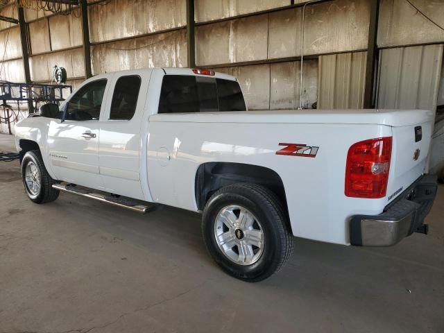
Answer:
<path fill-rule="evenodd" d="M 433 121 L 433 117 L 433 112 L 429 110 L 260 110 L 155 114 L 150 117 L 150 121 L 190 121 L 198 123 L 357 123 L 400 127 Z"/>

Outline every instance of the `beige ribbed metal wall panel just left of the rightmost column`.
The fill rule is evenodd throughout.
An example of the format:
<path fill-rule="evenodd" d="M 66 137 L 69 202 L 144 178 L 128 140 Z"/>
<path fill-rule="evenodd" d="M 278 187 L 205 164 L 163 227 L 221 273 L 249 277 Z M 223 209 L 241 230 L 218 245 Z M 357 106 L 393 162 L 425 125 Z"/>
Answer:
<path fill-rule="evenodd" d="M 363 108 L 366 60 L 367 52 L 319 57 L 319 109 Z"/>

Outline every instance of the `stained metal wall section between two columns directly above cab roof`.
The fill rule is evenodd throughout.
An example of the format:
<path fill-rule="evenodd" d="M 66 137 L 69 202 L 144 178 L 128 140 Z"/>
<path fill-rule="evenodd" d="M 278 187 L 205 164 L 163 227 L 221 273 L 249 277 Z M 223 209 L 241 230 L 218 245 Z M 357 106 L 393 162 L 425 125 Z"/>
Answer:
<path fill-rule="evenodd" d="M 187 66 L 185 3 L 123 0 L 89 6 L 93 74 Z"/>

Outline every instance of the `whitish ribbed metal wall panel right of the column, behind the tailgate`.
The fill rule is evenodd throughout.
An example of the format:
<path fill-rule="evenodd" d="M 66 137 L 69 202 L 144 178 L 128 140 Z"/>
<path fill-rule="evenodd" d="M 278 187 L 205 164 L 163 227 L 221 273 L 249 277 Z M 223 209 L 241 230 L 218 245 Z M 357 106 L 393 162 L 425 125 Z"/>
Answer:
<path fill-rule="evenodd" d="M 384 49 L 379 54 L 378 108 L 436 109 L 443 45 Z"/>

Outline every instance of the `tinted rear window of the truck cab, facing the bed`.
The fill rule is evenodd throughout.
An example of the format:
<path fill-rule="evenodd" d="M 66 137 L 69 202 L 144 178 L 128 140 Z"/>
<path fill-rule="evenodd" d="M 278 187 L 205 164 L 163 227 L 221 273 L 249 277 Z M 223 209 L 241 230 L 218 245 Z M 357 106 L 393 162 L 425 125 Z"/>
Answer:
<path fill-rule="evenodd" d="M 166 75 L 158 113 L 245 111 L 239 83 L 203 76 Z"/>

